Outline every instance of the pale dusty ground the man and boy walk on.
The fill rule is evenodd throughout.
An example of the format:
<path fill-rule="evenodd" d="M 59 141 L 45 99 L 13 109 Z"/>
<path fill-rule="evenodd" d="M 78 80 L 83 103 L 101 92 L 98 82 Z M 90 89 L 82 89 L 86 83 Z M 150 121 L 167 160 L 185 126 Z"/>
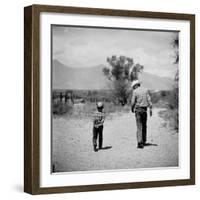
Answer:
<path fill-rule="evenodd" d="M 107 119 L 104 150 L 93 151 L 89 119 L 53 119 L 52 164 L 55 172 L 168 167 L 178 165 L 178 134 L 162 127 L 159 109 L 148 118 L 149 146 L 137 149 L 132 113 Z"/>

